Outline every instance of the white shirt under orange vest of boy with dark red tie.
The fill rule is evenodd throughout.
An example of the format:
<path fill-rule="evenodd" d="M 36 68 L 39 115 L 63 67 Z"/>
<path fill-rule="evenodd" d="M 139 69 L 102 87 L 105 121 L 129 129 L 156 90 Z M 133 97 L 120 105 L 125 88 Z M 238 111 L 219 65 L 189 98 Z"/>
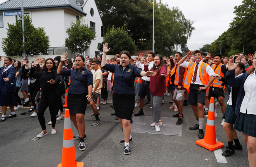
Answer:
<path fill-rule="evenodd" d="M 202 60 L 201 60 L 201 61 L 199 62 L 199 64 L 198 64 L 195 82 L 193 82 L 193 77 L 194 77 L 194 72 L 195 72 L 195 67 L 194 67 L 191 83 L 203 85 L 202 82 L 201 82 L 201 79 L 200 79 L 200 77 L 199 77 L 199 68 L 200 68 L 200 65 L 201 65 L 201 64 L 202 64 Z M 195 62 L 195 65 L 196 65 L 196 62 Z M 189 68 L 189 62 L 184 61 L 182 64 L 180 64 L 180 66 L 185 67 L 185 68 Z M 215 72 L 213 71 L 213 69 L 211 68 L 210 65 L 207 65 L 207 66 L 206 66 L 206 73 L 207 73 L 210 77 L 215 74 Z"/>

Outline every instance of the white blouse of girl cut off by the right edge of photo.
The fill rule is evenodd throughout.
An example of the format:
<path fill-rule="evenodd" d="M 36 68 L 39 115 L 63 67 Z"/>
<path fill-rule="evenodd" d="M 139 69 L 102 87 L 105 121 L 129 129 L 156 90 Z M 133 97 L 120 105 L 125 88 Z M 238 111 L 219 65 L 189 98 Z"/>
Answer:
<path fill-rule="evenodd" d="M 256 76 L 255 70 L 250 74 L 244 82 L 244 99 L 242 101 L 240 112 L 256 115 Z"/>

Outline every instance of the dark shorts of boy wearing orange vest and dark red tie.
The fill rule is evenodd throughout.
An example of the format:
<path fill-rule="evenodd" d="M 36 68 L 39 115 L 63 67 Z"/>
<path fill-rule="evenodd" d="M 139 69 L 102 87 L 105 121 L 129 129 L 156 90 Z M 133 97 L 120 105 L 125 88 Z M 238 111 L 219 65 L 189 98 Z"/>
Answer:
<path fill-rule="evenodd" d="M 202 85 L 192 86 L 190 85 L 189 89 L 189 97 L 188 104 L 189 105 L 197 105 L 197 103 L 205 104 L 205 90 L 199 91 L 198 89 L 202 87 Z"/>

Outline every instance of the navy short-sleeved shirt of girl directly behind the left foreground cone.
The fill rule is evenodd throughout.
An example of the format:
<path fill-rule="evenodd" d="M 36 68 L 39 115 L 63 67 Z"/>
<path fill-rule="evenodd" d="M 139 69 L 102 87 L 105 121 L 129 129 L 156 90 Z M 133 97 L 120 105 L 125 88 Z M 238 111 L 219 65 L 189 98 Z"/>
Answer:
<path fill-rule="evenodd" d="M 71 83 L 69 85 L 68 93 L 72 93 L 72 94 L 85 93 L 87 95 L 88 94 L 87 86 L 93 84 L 92 72 L 86 69 L 86 67 L 83 67 L 83 69 L 81 69 L 78 72 L 80 80 L 78 79 L 77 72 L 78 72 L 78 69 L 62 70 L 60 75 L 70 76 Z"/>

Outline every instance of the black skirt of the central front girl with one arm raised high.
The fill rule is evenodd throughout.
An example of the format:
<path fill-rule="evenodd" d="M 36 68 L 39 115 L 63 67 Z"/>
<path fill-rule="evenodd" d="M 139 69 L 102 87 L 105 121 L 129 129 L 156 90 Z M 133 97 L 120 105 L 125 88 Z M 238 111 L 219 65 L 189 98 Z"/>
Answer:
<path fill-rule="evenodd" d="M 134 102 L 135 93 L 128 95 L 113 93 L 113 105 L 118 118 L 131 120 Z"/>

